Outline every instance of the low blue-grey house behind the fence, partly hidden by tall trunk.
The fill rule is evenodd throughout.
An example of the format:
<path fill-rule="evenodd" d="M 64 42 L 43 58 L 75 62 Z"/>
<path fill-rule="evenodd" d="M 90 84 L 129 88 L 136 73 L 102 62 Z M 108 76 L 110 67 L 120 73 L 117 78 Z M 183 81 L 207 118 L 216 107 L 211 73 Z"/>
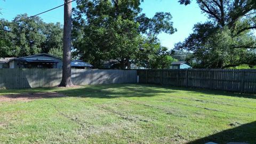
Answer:
<path fill-rule="evenodd" d="M 82 65 L 83 61 L 71 61 L 73 68 L 92 67 Z M 86 63 L 86 62 L 85 62 Z M 4 66 L 4 67 L 3 67 Z M 0 67 L 1 68 L 1 67 Z M 41 53 L 21 58 L 12 58 L 2 62 L 2 68 L 62 68 L 62 59 L 51 54 Z"/>

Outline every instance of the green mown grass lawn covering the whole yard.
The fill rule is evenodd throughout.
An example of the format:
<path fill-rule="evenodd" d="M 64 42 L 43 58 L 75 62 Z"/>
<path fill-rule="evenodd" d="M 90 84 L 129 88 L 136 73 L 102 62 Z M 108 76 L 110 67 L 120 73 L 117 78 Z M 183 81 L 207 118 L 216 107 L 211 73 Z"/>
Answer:
<path fill-rule="evenodd" d="M 60 98 L 0 102 L 0 143 L 256 143 L 256 95 L 115 84 Z"/>

